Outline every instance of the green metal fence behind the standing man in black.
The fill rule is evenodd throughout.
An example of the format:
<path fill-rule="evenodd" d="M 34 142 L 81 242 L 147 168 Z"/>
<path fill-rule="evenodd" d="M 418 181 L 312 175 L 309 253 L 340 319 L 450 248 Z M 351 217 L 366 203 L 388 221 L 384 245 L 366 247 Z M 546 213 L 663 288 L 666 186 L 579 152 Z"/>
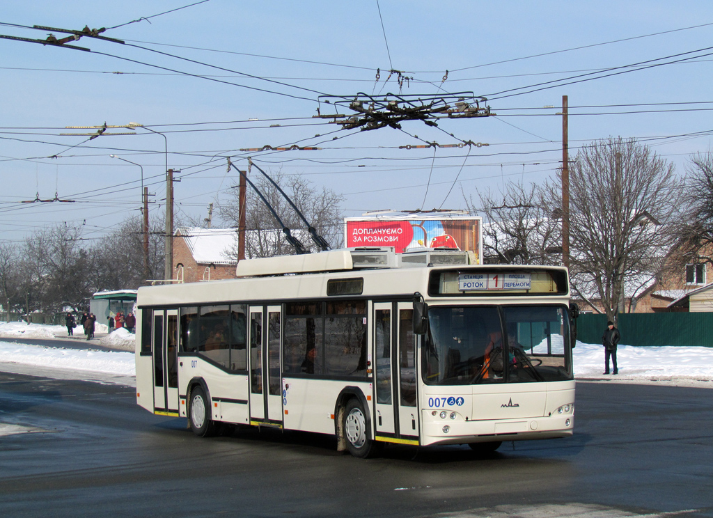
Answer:
<path fill-rule="evenodd" d="M 577 339 L 602 343 L 605 315 L 580 315 Z M 619 315 L 622 345 L 713 347 L 713 313 L 625 313 Z"/>

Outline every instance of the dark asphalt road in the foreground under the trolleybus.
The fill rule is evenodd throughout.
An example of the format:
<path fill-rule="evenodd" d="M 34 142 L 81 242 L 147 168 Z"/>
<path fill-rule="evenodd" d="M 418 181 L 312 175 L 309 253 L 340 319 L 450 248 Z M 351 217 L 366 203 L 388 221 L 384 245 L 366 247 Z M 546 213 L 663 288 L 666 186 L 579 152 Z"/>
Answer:
<path fill-rule="evenodd" d="M 133 388 L 0 373 L 0 512 L 8 517 L 713 517 L 713 391 L 578 384 L 575 436 L 387 447 L 321 435 L 201 439 Z M 9 435 L 7 435 L 9 434 Z"/>

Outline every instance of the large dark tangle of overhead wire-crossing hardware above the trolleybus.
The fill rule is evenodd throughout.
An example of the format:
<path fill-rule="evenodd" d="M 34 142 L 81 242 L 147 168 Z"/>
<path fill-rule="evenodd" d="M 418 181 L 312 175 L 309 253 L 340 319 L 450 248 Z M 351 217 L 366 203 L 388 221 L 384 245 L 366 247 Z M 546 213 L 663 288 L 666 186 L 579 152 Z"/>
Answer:
<path fill-rule="evenodd" d="M 426 125 L 438 126 L 436 120 L 442 118 L 459 119 L 488 117 L 492 113 L 490 106 L 481 108 L 487 98 L 476 96 L 473 92 L 449 93 L 448 95 L 320 95 L 319 104 L 334 105 L 335 115 L 324 115 L 319 110 L 313 118 L 330 118 L 330 124 L 342 125 L 345 130 L 361 128 L 361 131 L 376 130 L 390 126 L 401 129 L 404 120 L 422 120 Z M 357 115 L 344 115 L 349 110 Z"/>

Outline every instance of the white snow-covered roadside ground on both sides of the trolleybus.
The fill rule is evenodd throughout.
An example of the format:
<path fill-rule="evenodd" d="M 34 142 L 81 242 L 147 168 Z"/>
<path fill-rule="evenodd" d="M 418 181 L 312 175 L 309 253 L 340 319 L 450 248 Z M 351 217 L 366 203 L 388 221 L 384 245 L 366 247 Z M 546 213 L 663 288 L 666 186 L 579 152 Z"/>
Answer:
<path fill-rule="evenodd" d="M 78 331 L 79 328 L 75 329 Z M 97 324 L 96 334 L 106 333 Z M 81 333 L 80 333 L 81 334 Z M 3 338 L 67 338 L 64 326 L 0 323 Z M 135 376 L 134 338 L 125 329 L 97 336 L 86 343 L 87 350 L 29 346 L 0 342 L 0 371 L 37 373 L 50 377 L 91 379 L 111 383 L 129 383 Z M 93 344 L 125 349 L 127 352 L 97 351 Z M 604 348 L 597 344 L 577 343 L 574 349 L 575 378 L 607 380 L 617 383 L 660 383 L 665 385 L 713 388 L 713 348 L 707 347 L 632 347 L 617 350 L 618 375 L 604 372 Z"/>

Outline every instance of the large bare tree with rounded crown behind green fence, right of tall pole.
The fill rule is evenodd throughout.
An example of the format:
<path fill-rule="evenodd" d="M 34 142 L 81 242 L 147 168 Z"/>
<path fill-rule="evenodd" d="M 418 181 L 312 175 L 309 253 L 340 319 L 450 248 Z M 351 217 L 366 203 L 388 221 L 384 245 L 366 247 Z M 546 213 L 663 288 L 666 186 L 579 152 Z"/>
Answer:
<path fill-rule="evenodd" d="M 657 276 L 674 242 L 679 187 L 674 165 L 633 139 L 586 145 L 570 166 L 573 288 L 599 299 L 610 319 Z M 560 200 L 559 178 L 548 191 L 551 204 Z"/>

